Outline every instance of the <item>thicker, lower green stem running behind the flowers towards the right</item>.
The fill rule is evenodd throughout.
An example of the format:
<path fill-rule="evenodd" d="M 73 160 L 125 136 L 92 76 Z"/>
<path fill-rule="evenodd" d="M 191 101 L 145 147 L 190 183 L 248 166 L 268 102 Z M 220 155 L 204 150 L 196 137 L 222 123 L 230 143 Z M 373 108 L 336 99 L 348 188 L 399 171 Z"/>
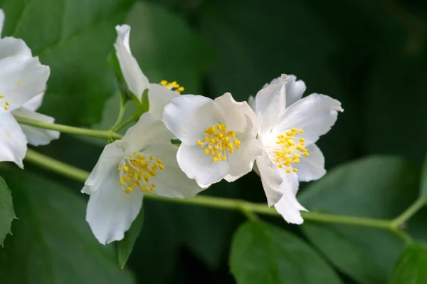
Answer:
<path fill-rule="evenodd" d="M 82 169 L 78 169 L 76 167 L 70 166 L 69 164 L 57 161 L 56 159 L 46 157 L 45 155 L 35 152 L 31 149 L 28 149 L 27 151 L 26 161 L 31 162 L 33 164 L 37 164 L 38 166 L 43 167 L 44 169 L 48 169 L 51 172 L 62 174 L 65 177 L 69 177 L 70 179 L 75 179 L 80 182 L 85 182 L 85 180 L 88 179 L 89 176 L 89 172 L 85 172 Z M 159 201 L 174 202 L 178 204 L 189 204 L 217 209 L 241 211 L 250 219 L 257 218 L 256 214 L 280 216 L 280 214 L 278 214 L 275 209 L 269 208 L 267 204 L 257 204 L 239 199 L 224 199 L 213 196 L 195 196 L 192 199 L 172 199 L 157 196 L 154 194 L 146 194 L 145 198 Z M 302 216 L 305 220 L 317 221 L 322 223 L 342 223 L 354 226 L 368 226 L 396 231 L 396 228 L 391 225 L 391 221 L 387 220 L 359 218 L 352 216 L 339 216 L 332 214 L 323 214 L 319 212 L 302 212 Z"/>

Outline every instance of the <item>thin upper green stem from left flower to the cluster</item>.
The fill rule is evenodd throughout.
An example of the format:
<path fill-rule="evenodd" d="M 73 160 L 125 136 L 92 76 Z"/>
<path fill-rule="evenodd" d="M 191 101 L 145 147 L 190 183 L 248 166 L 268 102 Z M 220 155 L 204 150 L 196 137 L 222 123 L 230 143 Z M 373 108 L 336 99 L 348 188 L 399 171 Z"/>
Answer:
<path fill-rule="evenodd" d="M 68 125 L 58 125 L 56 123 L 48 123 L 40 120 L 32 120 L 31 118 L 19 117 L 19 116 L 15 116 L 15 118 L 16 118 L 16 121 L 18 121 L 22 125 L 29 125 L 29 126 L 48 129 L 48 130 L 56 130 L 59 132 L 69 133 L 73 135 L 101 138 L 105 140 L 110 138 L 114 138 L 115 140 L 122 139 L 122 135 L 119 135 L 115 132 L 111 132 L 108 130 L 91 130 L 91 129 L 73 127 Z"/>

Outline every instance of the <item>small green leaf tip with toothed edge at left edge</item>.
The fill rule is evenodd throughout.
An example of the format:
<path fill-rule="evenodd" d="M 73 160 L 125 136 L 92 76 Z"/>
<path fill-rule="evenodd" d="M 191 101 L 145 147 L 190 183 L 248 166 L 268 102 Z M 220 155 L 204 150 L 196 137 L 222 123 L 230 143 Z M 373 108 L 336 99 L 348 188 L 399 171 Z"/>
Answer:
<path fill-rule="evenodd" d="M 4 245 L 4 239 L 11 233 L 12 221 L 16 218 L 12 194 L 6 182 L 0 177 L 0 246 Z"/>

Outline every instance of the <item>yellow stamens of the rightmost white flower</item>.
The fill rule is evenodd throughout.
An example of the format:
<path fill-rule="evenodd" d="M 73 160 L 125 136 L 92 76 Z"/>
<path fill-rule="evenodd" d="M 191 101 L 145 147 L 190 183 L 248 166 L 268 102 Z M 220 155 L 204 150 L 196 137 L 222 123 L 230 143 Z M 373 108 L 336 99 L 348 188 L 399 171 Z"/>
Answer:
<path fill-rule="evenodd" d="M 304 138 L 298 139 L 297 136 L 303 133 L 302 129 L 291 128 L 290 131 L 285 132 L 285 135 L 278 135 L 277 146 L 274 149 L 274 161 L 280 169 L 285 169 L 285 172 L 298 172 L 294 167 L 295 164 L 300 162 L 301 156 L 308 156 L 307 149 L 304 147 Z"/>

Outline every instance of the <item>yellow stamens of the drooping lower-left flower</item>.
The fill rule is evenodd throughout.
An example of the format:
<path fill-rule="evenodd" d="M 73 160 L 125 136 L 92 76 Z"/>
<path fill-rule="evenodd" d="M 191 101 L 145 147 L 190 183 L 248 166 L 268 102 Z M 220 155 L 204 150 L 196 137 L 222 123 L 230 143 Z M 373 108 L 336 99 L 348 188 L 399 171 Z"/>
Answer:
<path fill-rule="evenodd" d="M 129 157 L 122 159 L 119 164 L 122 189 L 127 194 L 134 189 L 154 192 L 156 184 L 151 182 L 151 179 L 156 177 L 157 169 L 164 169 L 161 159 L 133 152 Z"/>

